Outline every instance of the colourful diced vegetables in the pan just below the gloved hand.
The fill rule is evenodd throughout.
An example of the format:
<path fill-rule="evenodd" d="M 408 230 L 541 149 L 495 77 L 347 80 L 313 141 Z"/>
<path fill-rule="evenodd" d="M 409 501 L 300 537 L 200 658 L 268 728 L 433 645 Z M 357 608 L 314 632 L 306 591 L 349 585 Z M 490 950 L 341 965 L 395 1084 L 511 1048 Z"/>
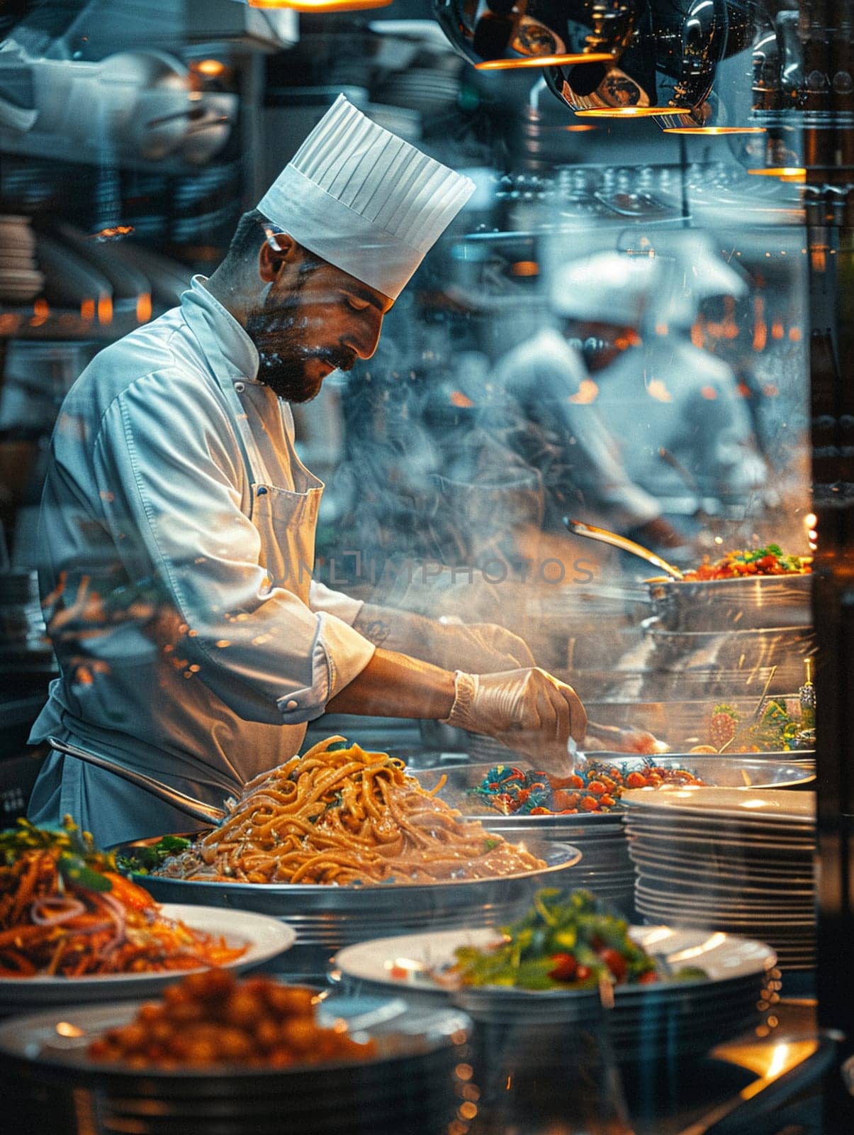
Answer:
<path fill-rule="evenodd" d="M 505 816 L 572 815 L 612 812 L 626 788 L 659 784 L 702 784 L 686 768 L 665 768 L 653 762 L 629 773 L 616 765 L 590 765 L 570 776 L 551 776 L 514 765 L 494 765 L 471 791 Z"/>

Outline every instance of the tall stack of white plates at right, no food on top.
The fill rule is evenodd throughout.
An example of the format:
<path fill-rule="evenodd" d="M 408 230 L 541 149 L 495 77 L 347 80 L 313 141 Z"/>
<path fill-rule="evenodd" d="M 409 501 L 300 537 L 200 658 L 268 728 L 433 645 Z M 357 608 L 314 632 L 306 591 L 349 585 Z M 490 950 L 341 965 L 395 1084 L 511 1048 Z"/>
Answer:
<path fill-rule="evenodd" d="M 760 938 L 783 969 L 813 968 L 814 792 L 637 789 L 623 801 L 648 922 Z"/>

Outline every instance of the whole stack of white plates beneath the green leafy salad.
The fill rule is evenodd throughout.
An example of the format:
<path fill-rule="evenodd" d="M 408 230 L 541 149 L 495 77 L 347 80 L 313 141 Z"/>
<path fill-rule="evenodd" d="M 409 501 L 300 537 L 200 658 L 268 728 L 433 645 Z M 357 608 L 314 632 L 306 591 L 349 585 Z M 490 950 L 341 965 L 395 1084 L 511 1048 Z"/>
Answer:
<path fill-rule="evenodd" d="M 606 1023 L 595 990 L 453 987 L 446 972 L 455 961 L 456 949 L 488 949 L 500 941 L 491 930 L 407 934 L 349 945 L 336 956 L 335 974 L 352 993 L 396 992 L 413 1006 L 424 1007 L 450 1001 L 492 1040 L 491 1029 L 513 1029 L 519 1040 L 517 1060 L 524 1058 L 531 1042 L 530 1033 L 519 1039 L 519 1029 L 553 1036 L 599 1024 L 607 1025 L 622 1062 L 705 1052 L 759 1025 L 760 1014 L 778 1000 L 776 957 L 764 942 L 669 926 L 632 926 L 629 934 L 660 959 L 665 972 L 695 966 L 704 976 L 619 985 Z"/>

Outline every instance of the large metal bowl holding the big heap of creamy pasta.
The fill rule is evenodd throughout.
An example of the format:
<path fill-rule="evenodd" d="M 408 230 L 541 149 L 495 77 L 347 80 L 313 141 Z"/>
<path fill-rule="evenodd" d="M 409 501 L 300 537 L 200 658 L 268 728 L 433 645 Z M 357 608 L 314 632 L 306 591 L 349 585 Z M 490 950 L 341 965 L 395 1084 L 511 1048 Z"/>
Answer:
<path fill-rule="evenodd" d="M 195 832 L 187 838 L 203 834 Z M 120 843 L 113 850 L 130 855 L 134 848 L 160 839 L 157 835 Z M 449 926 L 500 926 L 525 909 L 538 886 L 569 884 L 567 871 L 582 857 L 577 848 L 539 839 L 525 843 L 532 855 L 546 860 L 546 867 L 449 883 L 330 886 L 202 882 L 136 873 L 132 877 L 158 902 L 231 907 L 285 919 L 296 931 L 296 943 L 282 956 L 282 972 L 324 976 L 330 957 L 352 942 Z"/>

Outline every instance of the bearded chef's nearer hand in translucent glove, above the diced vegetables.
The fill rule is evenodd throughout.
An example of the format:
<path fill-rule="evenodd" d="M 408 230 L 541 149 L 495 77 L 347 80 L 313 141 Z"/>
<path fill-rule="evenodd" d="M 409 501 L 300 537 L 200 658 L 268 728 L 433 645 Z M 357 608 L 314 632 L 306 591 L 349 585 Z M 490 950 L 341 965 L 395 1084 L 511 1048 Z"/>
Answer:
<path fill-rule="evenodd" d="M 569 738 L 580 741 L 587 729 L 587 715 L 572 686 L 539 666 L 480 675 L 458 670 L 446 722 L 494 737 L 532 757 L 538 768 L 560 774 L 572 772 Z"/>

